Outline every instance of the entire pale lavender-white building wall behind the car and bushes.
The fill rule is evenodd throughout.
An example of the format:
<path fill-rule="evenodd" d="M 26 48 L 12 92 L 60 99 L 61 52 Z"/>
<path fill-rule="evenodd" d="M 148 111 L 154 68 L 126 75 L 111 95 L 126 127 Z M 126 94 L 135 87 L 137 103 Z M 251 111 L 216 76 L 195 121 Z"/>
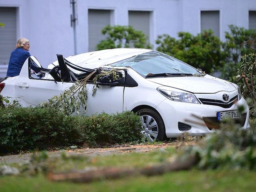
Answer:
<path fill-rule="evenodd" d="M 220 11 L 220 39 L 228 25 L 248 28 L 249 10 L 256 11 L 256 0 L 76 0 L 78 23 L 77 53 L 88 51 L 88 9 L 112 10 L 112 25 L 128 25 L 128 11 L 150 11 L 150 43 L 158 35 L 177 38 L 179 31 L 200 33 L 200 11 Z M 75 54 L 74 31 L 70 25 L 70 0 L 0 0 L 0 6 L 18 7 L 17 39 L 30 40 L 30 54 L 42 66 Z M 1 22 L 1 18 L 0 18 Z M 13 45 L 14 47 L 15 45 Z M 156 47 L 155 47 L 156 48 Z M 1 66 L 0 66 L 1 67 Z M 3 75 L 0 74 L 0 77 Z M 4 75 L 5 76 L 5 75 Z"/>

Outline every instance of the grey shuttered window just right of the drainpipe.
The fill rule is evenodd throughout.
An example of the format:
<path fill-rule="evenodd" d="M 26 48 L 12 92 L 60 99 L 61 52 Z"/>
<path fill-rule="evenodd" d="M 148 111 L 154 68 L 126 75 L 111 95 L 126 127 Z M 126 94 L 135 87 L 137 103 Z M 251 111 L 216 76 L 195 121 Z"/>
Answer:
<path fill-rule="evenodd" d="M 110 25 L 110 13 L 110 10 L 88 10 L 89 52 L 97 50 L 96 45 L 105 39 L 101 29 L 106 27 L 106 25 Z"/>

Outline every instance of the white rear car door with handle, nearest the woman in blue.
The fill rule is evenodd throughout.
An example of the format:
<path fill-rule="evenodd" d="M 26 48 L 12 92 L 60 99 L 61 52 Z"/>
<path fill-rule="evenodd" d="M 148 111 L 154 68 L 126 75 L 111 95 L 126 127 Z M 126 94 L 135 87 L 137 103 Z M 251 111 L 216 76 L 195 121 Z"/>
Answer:
<path fill-rule="evenodd" d="M 31 77 L 28 60 L 29 58 L 21 68 L 14 90 L 15 96 L 22 106 L 35 107 L 40 102 L 48 101 L 54 95 L 60 95 L 62 92 L 62 82 L 56 82 L 53 79 Z"/>

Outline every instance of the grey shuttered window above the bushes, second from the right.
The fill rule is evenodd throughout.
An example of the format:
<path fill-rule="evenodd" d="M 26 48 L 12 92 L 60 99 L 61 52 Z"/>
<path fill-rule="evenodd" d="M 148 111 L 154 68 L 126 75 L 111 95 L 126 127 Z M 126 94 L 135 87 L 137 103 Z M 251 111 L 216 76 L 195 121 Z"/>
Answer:
<path fill-rule="evenodd" d="M 201 11 L 201 32 L 208 29 L 220 38 L 220 11 Z"/>

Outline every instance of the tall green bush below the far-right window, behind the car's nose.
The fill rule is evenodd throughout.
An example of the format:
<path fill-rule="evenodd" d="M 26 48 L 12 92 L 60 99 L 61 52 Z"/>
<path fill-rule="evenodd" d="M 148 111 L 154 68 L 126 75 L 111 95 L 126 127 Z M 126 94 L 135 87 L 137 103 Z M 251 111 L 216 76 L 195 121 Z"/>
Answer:
<path fill-rule="evenodd" d="M 228 27 L 230 32 L 225 32 L 226 42 L 223 44 L 225 65 L 221 68 L 222 77 L 235 76 L 241 65 L 240 57 L 252 53 L 255 49 L 253 40 L 256 38 L 256 30 L 234 25 Z"/>

